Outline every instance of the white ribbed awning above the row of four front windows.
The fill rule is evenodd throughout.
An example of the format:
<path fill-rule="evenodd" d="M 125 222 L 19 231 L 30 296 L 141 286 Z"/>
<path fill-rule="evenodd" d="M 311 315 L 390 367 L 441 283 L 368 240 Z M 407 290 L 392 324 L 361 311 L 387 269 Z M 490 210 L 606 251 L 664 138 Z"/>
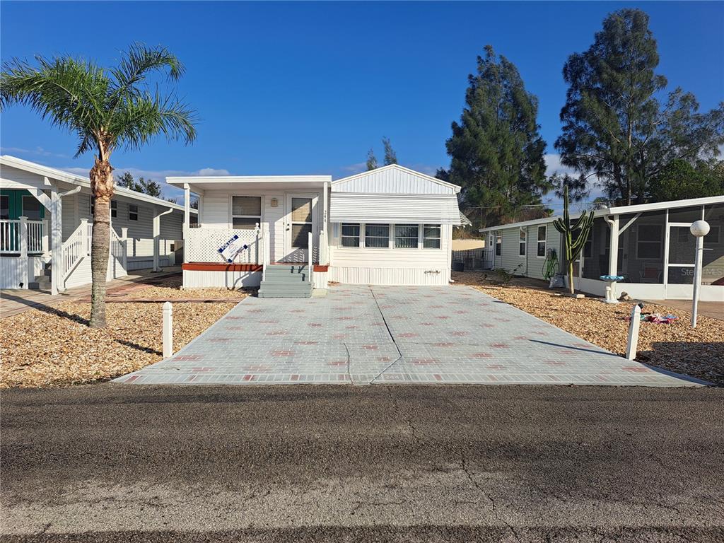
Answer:
<path fill-rule="evenodd" d="M 333 192 L 329 207 L 331 222 L 460 224 L 455 194 Z"/>

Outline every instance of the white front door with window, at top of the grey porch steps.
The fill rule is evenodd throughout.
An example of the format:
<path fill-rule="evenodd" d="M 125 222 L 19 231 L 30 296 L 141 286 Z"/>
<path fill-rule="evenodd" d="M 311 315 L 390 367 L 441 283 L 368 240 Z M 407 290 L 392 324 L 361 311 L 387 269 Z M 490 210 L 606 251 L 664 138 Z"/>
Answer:
<path fill-rule="evenodd" d="M 316 194 L 287 193 L 284 232 L 285 262 L 309 261 L 309 232 L 312 234 L 312 243 L 316 243 L 317 200 Z"/>

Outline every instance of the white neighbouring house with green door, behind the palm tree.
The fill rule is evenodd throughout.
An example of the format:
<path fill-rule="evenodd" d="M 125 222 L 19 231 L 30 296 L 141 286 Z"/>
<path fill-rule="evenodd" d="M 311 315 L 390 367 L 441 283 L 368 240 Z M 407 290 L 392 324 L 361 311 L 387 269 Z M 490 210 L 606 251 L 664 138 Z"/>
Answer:
<path fill-rule="evenodd" d="M 191 210 L 195 214 L 195 210 Z M 182 261 L 184 208 L 117 187 L 107 279 Z M 90 180 L 0 156 L 0 287 L 53 294 L 91 282 Z"/>

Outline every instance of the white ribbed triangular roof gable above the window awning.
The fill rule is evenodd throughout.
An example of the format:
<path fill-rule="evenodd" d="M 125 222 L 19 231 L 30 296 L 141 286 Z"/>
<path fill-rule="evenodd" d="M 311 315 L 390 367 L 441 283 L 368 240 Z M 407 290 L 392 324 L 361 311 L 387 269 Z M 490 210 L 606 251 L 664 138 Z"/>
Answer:
<path fill-rule="evenodd" d="M 456 194 L 458 185 L 442 181 L 399 164 L 371 169 L 332 181 L 334 193 Z"/>

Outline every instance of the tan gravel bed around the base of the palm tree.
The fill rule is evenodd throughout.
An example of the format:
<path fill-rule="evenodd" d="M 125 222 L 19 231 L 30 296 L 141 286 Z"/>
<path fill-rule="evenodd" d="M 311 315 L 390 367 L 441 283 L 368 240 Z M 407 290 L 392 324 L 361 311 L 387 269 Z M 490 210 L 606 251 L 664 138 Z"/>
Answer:
<path fill-rule="evenodd" d="M 161 306 L 180 298 L 227 298 L 214 303 L 174 303 L 174 350 L 201 334 L 247 292 L 180 290 L 180 277 L 138 285 L 113 298 L 157 303 L 109 303 L 108 327 L 86 326 L 90 303 L 67 302 L 2 319 L 0 387 L 58 387 L 113 379 L 161 360 Z"/>

